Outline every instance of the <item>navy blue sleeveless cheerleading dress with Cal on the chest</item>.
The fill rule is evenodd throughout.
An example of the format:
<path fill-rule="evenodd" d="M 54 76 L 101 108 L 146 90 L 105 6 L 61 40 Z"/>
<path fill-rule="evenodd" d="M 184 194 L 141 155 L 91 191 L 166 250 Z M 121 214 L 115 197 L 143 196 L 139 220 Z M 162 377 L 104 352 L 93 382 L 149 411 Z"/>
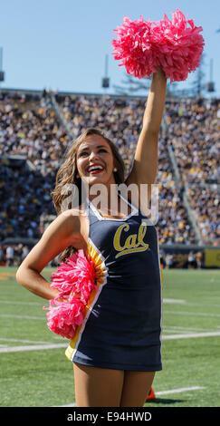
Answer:
<path fill-rule="evenodd" d="M 88 252 L 98 271 L 98 290 L 66 356 L 94 367 L 158 371 L 162 369 L 158 233 L 139 208 L 128 204 L 127 218 L 103 218 L 88 200 Z"/>

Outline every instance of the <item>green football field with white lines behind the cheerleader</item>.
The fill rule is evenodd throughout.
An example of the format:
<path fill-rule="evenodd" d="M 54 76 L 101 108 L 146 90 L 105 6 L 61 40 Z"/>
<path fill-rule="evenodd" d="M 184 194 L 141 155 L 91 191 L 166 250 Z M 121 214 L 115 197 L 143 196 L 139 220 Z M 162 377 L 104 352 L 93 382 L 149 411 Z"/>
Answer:
<path fill-rule="evenodd" d="M 50 280 L 54 268 L 45 268 Z M 47 329 L 47 301 L 17 284 L 14 267 L 0 267 L 0 406 L 75 403 L 68 341 Z M 220 406 L 220 271 L 165 270 L 163 370 L 148 407 Z"/>

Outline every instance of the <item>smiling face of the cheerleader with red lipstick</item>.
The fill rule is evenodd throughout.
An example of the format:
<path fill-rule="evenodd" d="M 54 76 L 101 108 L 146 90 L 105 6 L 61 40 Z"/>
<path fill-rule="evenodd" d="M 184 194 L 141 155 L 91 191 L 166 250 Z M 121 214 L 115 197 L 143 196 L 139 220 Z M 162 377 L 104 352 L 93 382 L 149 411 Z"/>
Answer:
<path fill-rule="evenodd" d="M 81 142 L 76 153 L 76 165 L 80 178 L 94 183 L 115 183 L 114 157 L 109 143 L 100 135 L 89 135 Z"/>

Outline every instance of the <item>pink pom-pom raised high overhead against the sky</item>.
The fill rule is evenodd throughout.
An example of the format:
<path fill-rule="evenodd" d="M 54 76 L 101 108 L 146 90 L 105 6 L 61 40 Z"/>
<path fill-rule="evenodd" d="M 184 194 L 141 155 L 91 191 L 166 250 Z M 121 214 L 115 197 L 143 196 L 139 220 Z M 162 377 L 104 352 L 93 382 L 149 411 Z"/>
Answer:
<path fill-rule="evenodd" d="M 125 65 L 127 73 L 140 79 L 161 66 L 170 82 L 179 82 L 199 66 L 205 44 L 199 34 L 203 28 L 196 27 L 192 19 L 187 21 L 178 9 L 172 21 L 167 15 L 159 23 L 144 21 L 142 15 L 136 21 L 125 16 L 123 21 L 113 31 L 117 39 L 112 45 L 114 58 Z"/>

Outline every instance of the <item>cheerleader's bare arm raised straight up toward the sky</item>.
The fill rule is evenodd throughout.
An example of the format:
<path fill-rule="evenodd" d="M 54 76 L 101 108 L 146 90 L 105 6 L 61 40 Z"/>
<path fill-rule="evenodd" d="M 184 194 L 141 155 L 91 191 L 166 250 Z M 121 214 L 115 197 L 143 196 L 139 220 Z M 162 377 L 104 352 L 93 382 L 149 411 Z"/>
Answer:
<path fill-rule="evenodd" d="M 166 99 L 167 78 L 158 68 L 153 74 L 148 101 L 143 117 L 142 130 L 135 151 L 133 167 L 126 185 L 152 184 L 158 172 L 158 133 Z"/>

